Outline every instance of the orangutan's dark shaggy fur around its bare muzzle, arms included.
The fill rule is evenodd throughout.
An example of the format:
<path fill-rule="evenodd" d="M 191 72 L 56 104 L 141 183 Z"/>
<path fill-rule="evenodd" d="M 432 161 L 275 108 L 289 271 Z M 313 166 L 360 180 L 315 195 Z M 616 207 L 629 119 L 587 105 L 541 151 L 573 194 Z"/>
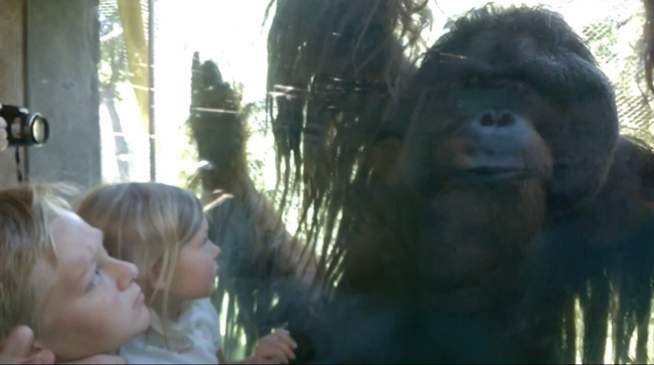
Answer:
<path fill-rule="evenodd" d="M 635 360 L 647 360 L 654 153 L 618 136 L 611 87 L 558 14 L 475 10 L 418 67 L 405 54 L 428 25 L 427 1 L 275 3 L 268 112 L 281 209 L 300 193 L 300 247 L 317 257 L 308 278 L 322 289 L 318 300 L 307 276 L 289 270 L 293 249 L 269 250 L 296 240 L 275 210 L 257 210 L 242 121 L 195 109 L 191 121 L 201 157 L 217 165 L 203 172 L 205 189 L 237 197 L 210 215 L 239 237 L 220 293 L 237 298 L 239 317 L 228 309 L 228 320 L 247 329 L 250 346 L 286 325 L 302 364 L 572 363 L 576 351 L 597 363 L 611 323 L 615 362 L 629 360 L 634 332 Z M 217 88 L 194 94 L 193 107 L 235 108 L 218 95 L 217 67 L 202 72 Z M 538 135 L 525 151 L 538 174 L 462 183 L 451 169 L 465 157 L 457 133 L 479 101 L 490 103 L 488 93 L 462 91 L 498 87 L 500 75 L 532 95 L 493 106 Z M 217 141 L 226 148 L 205 150 Z M 277 286 L 288 274 L 295 286 Z"/>

